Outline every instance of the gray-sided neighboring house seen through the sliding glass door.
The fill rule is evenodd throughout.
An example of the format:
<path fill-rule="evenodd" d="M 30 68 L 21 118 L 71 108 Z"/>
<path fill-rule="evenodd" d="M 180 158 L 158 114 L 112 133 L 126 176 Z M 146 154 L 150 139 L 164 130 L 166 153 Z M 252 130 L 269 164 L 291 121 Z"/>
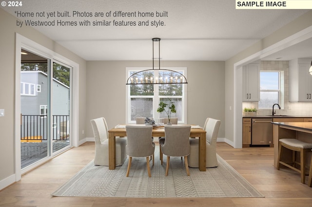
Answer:
<path fill-rule="evenodd" d="M 47 139 L 48 79 L 42 71 L 21 71 L 21 139 Z M 53 139 L 69 137 L 70 88 L 53 78 Z"/>

